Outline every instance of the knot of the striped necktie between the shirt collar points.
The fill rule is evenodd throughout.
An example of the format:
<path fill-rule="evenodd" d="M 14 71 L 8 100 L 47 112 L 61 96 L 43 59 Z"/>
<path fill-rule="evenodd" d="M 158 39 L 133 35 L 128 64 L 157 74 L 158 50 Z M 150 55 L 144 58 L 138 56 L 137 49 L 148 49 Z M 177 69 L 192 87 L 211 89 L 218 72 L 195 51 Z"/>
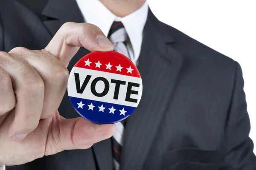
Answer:
<path fill-rule="evenodd" d="M 121 21 L 113 22 L 109 30 L 108 37 L 113 44 L 118 42 L 126 42 L 128 35 Z"/>

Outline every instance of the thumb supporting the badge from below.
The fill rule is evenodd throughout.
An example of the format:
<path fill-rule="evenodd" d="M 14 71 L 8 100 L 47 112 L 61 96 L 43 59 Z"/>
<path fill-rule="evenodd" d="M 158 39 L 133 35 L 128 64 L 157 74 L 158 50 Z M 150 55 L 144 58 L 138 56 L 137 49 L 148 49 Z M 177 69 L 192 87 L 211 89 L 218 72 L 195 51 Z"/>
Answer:
<path fill-rule="evenodd" d="M 65 119 L 57 113 L 49 127 L 45 155 L 63 150 L 87 149 L 113 136 L 115 129 L 114 124 L 98 125 L 82 117 Z"/>

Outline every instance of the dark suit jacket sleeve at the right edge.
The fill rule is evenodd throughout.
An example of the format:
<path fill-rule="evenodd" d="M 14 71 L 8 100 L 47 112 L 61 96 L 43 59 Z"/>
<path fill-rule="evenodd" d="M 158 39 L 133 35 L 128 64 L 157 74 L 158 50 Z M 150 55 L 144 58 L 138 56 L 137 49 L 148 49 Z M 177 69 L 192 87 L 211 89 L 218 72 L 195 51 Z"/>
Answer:
<path fill-rule="evenodd" d="M 227 117 L 227 153 L 221 170 L 256 170 L 253 142 L 249 138 L 250 119 L 243 90 L 244 79 L 239 63 L 236 62 L 236 64 L 236 79 Z"/>

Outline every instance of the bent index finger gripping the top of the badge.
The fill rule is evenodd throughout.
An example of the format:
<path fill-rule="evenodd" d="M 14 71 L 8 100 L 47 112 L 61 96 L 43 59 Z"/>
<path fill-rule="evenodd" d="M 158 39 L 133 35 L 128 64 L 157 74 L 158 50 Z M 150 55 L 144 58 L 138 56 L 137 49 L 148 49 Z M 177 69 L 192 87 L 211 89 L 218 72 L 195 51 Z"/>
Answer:
<path fill-rule="evenodd" d="M 112 51 L 114 48 L 99 27 L 88 23 L 69 22 L 61 26 L 44 50 L 67 67 L 80 47 L 89 51 Z"/>

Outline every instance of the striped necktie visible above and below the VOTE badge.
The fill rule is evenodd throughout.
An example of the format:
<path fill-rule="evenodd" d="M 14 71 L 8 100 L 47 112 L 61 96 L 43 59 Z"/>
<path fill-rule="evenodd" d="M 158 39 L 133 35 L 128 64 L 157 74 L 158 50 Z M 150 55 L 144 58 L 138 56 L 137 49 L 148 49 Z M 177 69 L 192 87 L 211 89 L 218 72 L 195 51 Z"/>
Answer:
<path fill-rule="evenodd" d="M 125 27 L 123 26 L 122 22 L 113 22 L 109 34 L 109 40 L 114 45 L 114 51 L 119 52 L 129 59 L 131 59 L 129 55 L 129 51 L 127 48 L 127 40 L 128 34 L 125 31 Z M 119 170 L 120 159 L 121 159 L 121 152 L 122 152 L 122 136 L 125 129 L 125 120 L 116 123 L 116 131 L 112 136 L 112 150 L 113 150 L 113 169 Z"/>

